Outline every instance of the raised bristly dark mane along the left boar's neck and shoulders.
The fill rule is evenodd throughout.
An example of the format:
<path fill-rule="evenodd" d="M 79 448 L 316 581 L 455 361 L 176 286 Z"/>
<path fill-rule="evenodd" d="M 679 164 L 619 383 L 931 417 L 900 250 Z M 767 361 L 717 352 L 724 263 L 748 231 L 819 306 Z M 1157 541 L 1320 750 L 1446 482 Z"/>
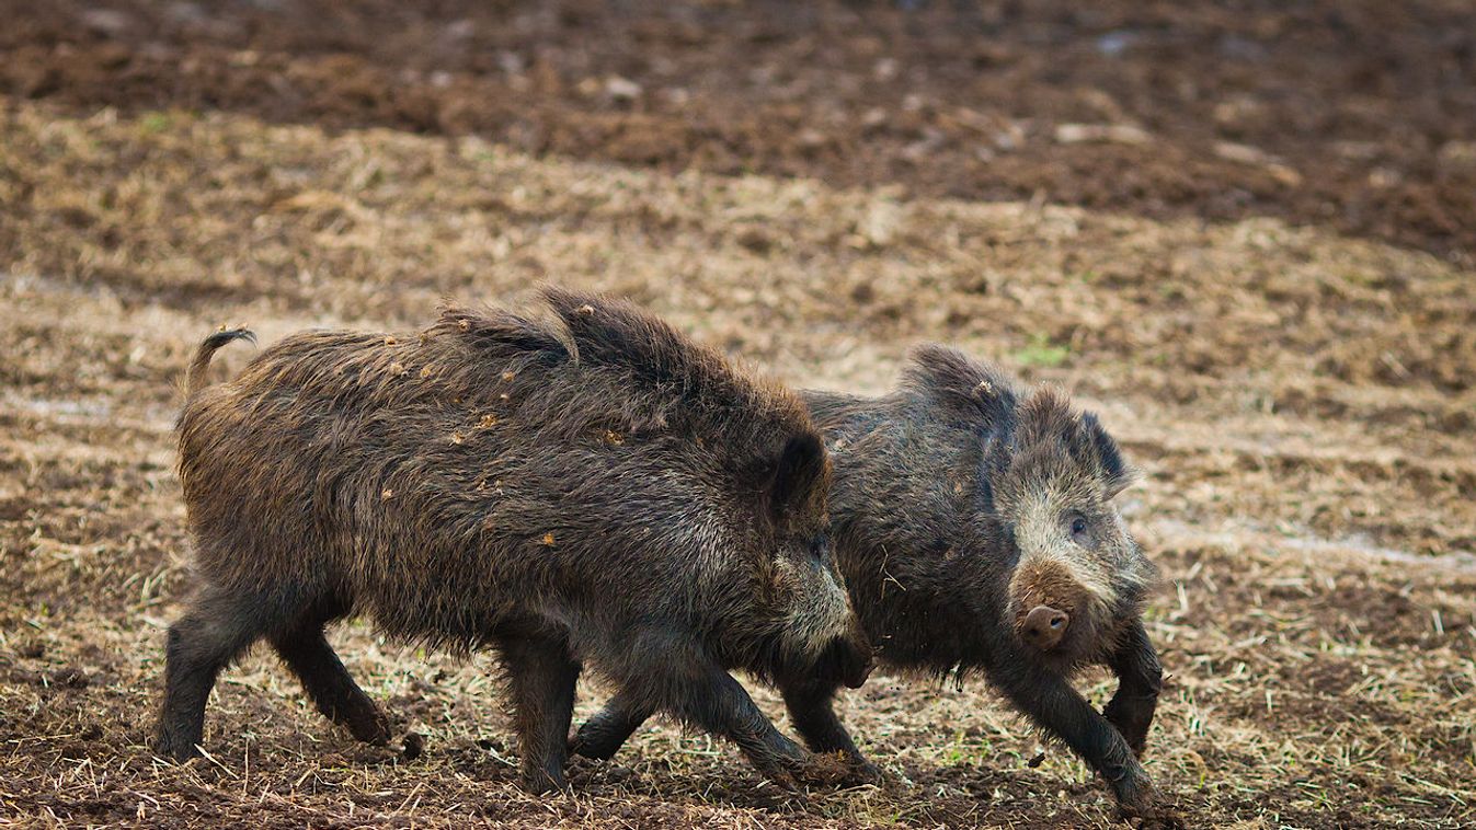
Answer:
<path fill-rule="evenodd" d="M 742 469 L 770 464 L 796 435 L 818 436 L 797 395 L 633 304 L 561 287 L 543 287 L 540 298 L 543 308 L 527 315 L 441 313 L 427 342 L 455 354 L 459 377 L 446 380 L 459 395 L 505 389 L 545 408 L 546 429 L 697 439 L 704 454 Z"/>

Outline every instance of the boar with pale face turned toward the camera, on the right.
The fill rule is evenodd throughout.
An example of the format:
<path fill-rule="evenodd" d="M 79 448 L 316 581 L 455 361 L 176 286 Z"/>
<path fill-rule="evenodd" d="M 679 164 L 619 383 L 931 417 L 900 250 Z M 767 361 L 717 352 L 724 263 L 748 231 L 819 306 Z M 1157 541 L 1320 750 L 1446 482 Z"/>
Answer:
<path fill-rule="evenodd" d="M 889 395 L 806 400 L 835 464 L 841 572 L 881 662 L 983 674 L 1125 812 L 1157 814 L 1137 758 L 1162 684 L 1141 621 L 1154 568 L 1111 504 L 1131 475 L 1097 417 L 943 346 L 918 349 Z M 1106 716 L 1070 684 L 1091 663 L 1120 677 Z M 875 774 L 832 711 L 837 678 L 781 687 L 810 749 Z M 608 758 L 638 724 L 617 694 L 576 749 Z"/>

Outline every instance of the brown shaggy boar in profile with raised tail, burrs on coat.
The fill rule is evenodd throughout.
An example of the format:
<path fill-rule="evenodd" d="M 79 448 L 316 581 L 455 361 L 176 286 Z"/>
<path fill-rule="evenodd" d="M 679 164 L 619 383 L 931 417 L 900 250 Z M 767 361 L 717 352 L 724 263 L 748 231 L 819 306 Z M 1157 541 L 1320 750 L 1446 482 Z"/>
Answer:
<path fill-rule="evenodd" d="M 263 638 L 319 711 L 388 740 L 323 637 L 365 613 L 497 652 L 533 790 L 565 786 L 583 669 L 770 778 L 806 770 L 728 674 L 869 669 L 803 402 L 624 302 L 543 298 L 546 320 L 295 335 L 210 388 L 211 352 L 249 333 L 205 341 L 179 420 L 196 585 L 168 631 L 161 753 L 196 753 L 217 672 Z"/>

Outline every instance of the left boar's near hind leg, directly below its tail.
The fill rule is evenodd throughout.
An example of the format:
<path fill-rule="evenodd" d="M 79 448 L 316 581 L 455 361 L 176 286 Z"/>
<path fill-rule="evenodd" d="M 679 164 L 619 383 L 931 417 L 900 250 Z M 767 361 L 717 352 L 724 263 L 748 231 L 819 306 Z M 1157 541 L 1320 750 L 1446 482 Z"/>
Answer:
<path fill-rule="evenodd" d="M 207 587 L 190 601 L 165 646 L 164 706 L 155 746 L 159 755 L 187 761 L 205 728 L 205 700 L 215 675 L 241 652 L 282 622 L 280 597 Z"/>

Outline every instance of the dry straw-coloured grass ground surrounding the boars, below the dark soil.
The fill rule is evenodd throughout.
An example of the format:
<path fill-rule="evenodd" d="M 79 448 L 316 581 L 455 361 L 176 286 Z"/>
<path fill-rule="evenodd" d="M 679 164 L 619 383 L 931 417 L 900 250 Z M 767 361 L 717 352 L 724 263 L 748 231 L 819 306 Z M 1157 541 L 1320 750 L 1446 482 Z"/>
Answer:
<path fill-rule="evenodd" d="M 152 759 L 186 563 L 170 422 L 198 338 L 412 326 L 441 296 L 539 280 L 632 296 L 797 383 L 881 389 L 908 343 L 940 339 L 1097 401 L 1147 472 L 1125 509 L 1166 576 L 1159 784 L 1204 826 L 1476 821 L 1470 271 L 1263 220 L 34 105 L 0 121 L 0 820 L 1111 824 L 1079 762 L 1026 765 L 1036 739 L 982 684 L 892 677 L 844 703 L 887 787 L 797 801 L 663 725 L 579 765 L 574 796 L 531 799 L 487 659 L 362 625 L 335 643 L 424 756 L 354 744 L 254 655 L 213 699 L 213 761 Z"/>

